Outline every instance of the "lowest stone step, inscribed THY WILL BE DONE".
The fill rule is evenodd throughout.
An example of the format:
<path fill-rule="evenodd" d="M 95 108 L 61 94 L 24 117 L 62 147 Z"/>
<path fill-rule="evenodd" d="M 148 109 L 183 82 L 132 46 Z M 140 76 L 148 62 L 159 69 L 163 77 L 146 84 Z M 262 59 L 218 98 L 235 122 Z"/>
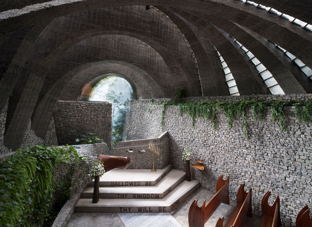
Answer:
<path fill-rule="evenodd" d="M 198 187 L 199 181 L 183 181 L 163 199 L 100 199 L 92 203 L 92 199 L 80 199 L 75 212 L 85 213 L 158 213 L 170 212 Z"/>

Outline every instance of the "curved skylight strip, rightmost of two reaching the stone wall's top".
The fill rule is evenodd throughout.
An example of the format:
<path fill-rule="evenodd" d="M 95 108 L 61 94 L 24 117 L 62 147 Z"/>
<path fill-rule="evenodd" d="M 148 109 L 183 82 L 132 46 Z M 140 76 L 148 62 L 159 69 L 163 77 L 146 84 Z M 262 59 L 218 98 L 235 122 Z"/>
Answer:
<path fill-rule="evenodd" d="M 232 36 L 231 36 L 232 37 Z M 232 37 L 233 38 L 233 37 Z M 234 39 L 234 38 L 233 38 Z M 277 81 L 274 79 L 273 75 L 270 73 L 269 70 L 266 69 L 266 67 L 253 55 L 246 47 L 244 47 L 241 43 L 239 43 L 236 39 L 234 39 L 235 42 L 241 47 L 242 50 L 245 51 L 245 54 L 249 57 L 249 60 L 252 62 L 252 64 L 255 66 L 255 68 L 258 70 L 259 75 L 263 79 L 263 82 L 268 87 L 269 91 L 273 95 L 282 94 L 283 92 L 280 85 L 277 83 Z"/>

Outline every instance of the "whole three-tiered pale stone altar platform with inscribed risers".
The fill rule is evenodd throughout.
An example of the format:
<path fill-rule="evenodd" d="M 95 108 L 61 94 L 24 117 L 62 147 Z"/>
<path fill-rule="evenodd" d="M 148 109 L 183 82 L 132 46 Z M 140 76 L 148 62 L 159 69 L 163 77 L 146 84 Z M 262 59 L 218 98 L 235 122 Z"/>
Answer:
<path fill-rule="evenodd" d="M 200 183 L 185 181 L 185 172 L 171 165 L 150 169 L 115 169 L 100 178 L 100 200 L 92 203 L 94 182 L 81 193 L 75 212 L 170 212 L 194 192 Z"/>

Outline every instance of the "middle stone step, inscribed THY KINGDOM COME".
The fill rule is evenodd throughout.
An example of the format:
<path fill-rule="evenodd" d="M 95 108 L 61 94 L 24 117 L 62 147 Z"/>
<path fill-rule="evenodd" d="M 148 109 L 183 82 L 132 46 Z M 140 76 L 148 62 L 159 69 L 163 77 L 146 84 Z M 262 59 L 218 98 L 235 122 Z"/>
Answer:
<path fill-rule="evenodd" d="M 156 186 L 100 187 L 101 199 L 162 199 L 185 180 L 185 172 L 172 169 Z M 85 187 L 80 198 L 92 198 L 93 186 Z"/>

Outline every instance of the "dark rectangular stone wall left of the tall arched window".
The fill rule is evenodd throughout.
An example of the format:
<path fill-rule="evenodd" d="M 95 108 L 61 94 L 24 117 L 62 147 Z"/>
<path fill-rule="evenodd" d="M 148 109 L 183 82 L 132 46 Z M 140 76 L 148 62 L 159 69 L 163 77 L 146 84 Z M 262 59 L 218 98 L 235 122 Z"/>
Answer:
<path fill-rule="evenodd" d="M 59 145 L 77 144 L 80 135 L 95 133 L 111 149 L 112 104 L 58 101 L 53 116 Z"/>

